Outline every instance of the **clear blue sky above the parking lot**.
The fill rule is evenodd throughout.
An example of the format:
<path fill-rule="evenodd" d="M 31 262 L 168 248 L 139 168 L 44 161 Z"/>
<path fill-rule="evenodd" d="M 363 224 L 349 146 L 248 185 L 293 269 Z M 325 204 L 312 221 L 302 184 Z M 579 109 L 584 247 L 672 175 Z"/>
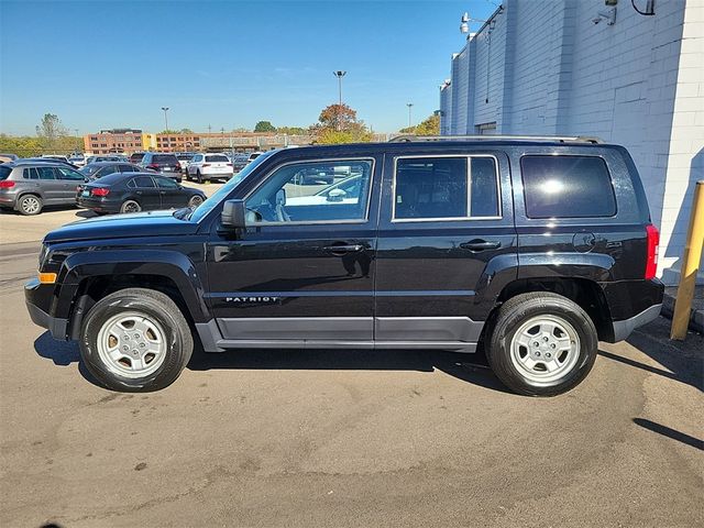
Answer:
<path fill-rule="evenodd" d="M 439 107 L 439 85 L 490 0 L 0 0 L 0 132 L 44 113 L 73 133 L 308 127 L 338 101 L 375 132 Z M 477 28 L 480 23 L 475 24 Z M 473 28 L 475 29 L 475 28 Z"/>

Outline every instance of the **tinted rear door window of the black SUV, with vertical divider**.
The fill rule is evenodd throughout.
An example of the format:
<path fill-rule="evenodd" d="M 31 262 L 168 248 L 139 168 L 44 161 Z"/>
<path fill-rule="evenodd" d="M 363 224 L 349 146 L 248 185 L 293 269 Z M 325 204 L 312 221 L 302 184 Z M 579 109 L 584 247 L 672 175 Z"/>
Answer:
<path fill-rule="evenodd" d="M 400 158 L 396 164 L 394 218 L 498 217 L 493 157 Z"/>

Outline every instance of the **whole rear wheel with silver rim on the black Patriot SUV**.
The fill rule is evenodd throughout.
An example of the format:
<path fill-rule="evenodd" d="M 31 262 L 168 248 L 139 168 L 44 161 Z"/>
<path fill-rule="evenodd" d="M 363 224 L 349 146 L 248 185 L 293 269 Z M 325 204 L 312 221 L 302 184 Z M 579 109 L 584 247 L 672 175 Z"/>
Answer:
<path fill-rule="evenodd" d="M 597 349 L 594 322 L 579 305 L 561 295 L 530 293 L 499 308 L 486 359 L 512 391 L 554 396 L 586 377 Z"/>

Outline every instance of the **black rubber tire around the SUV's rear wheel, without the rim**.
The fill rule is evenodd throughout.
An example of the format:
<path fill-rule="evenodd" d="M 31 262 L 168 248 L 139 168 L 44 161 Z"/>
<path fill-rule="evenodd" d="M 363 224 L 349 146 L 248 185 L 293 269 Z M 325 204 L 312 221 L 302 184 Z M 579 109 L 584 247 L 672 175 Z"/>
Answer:
<path fill-rule="evenodd" d="M 563 377 L 549 384 L 536 384 L 524 377 L 514 365 L 510 344 L 520 326 L 528 319 L 552 315 L 568 321 L 580 338 L 580 352 L 574 366 Z M 588 316 L 569 299 L 548 297 L 540 304 L 527 301 L 497 322 L 492 336 L 490 363 L 497 375 L 510 387 L 522 394 L 551 396 L 564 393 L 579 385 L 590 373 L 598 350 L 596 329 Z M 504 380 L 504 377 L 508 380 Z"/>

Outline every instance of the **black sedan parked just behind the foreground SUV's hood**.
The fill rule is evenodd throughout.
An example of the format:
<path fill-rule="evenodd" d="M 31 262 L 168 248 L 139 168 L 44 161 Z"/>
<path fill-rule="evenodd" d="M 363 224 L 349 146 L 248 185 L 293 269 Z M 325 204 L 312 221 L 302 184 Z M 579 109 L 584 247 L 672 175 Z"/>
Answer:
<path fill-rule="evenodd" d="M 197 207 L 206 195 L 153 173 L 117 173 L 82 186 L 75 199 L 79 207 L 108 213 Z"/>

